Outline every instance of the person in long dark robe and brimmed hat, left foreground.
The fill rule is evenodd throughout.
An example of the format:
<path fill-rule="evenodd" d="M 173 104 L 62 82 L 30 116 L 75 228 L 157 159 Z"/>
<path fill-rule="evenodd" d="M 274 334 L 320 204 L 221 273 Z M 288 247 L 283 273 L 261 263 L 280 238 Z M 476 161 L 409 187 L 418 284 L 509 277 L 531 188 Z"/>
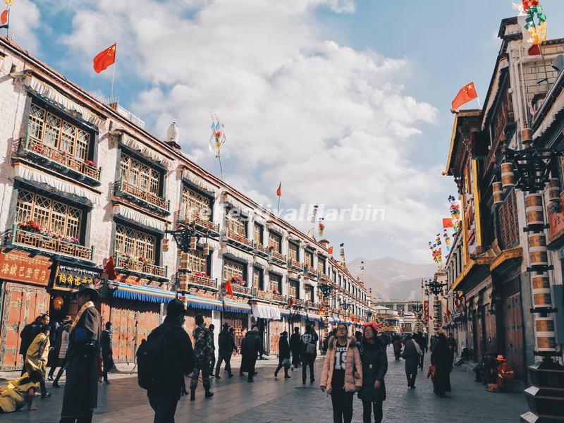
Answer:
<path fill-rule="evenodd" d="M 92 283 L 82 283 L 77 295 L 79 309 L 69 331 L 66 352 L 61 423 L 92 422 L 92 412 L 98 403 L 97 362 L 102 320 L 94 301 L 98 300 L 99 295 Z"/>

